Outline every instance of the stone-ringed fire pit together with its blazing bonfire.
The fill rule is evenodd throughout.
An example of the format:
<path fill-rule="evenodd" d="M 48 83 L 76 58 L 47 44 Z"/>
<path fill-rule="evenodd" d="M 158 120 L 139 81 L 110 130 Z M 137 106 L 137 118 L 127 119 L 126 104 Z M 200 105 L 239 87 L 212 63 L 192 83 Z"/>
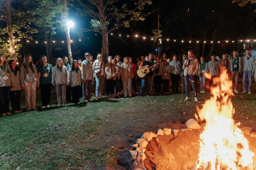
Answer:
<path fill-rule="evenodd" d="M 233 120 L 234 94 L 227 73 L 223 71 L 214 84 L 210 99 L 195 114 L 197 122 L 206 123 L 200 126 L 191 119 L 186 122 L 188 129 L 144 133 L 130 150 L 135 169 L 256 169 L 256 133 L 250 128 L 241 130 Z"/>

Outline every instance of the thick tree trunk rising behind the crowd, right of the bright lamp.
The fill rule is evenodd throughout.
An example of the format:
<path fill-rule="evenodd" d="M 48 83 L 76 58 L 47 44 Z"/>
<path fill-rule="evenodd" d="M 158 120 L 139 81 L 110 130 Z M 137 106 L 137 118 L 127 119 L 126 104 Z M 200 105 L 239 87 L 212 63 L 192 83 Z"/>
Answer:
<path fill-rule="evenodd" d="M 98 1 L 99 4 L 99 22 L 101 25 L 106 23 L 106 16 L 105 16 L 105 11 L 104 11 L 104 7 L 103 7 L 103 1 L 99 0 Z M 109 55 L 109 39 L 108 39 L 108 27 L 105 26 L 104 28 L 102 28 L 102 46 L 101 46 L 101 53 L 103 55 L 103 59 L 104 61 L 106 60 L 106 58 Z"/>

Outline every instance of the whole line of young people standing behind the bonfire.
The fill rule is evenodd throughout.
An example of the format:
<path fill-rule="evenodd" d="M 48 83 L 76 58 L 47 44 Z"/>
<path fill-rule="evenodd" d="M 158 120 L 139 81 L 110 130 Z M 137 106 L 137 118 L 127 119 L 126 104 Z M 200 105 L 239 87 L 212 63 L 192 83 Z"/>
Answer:
<path fill-rule="evenodd" d="M 9 109 L 9 98 L 11 99 L 12 113 L 22 112 L 20 108 L 21 90 L 25 90 L 26 111 L 37 110 L 36 88 L 41 89 L 42 108 L 50 107 L 50 94 L 52 85 L 55 86 L 58 107 L 65 106 L 67 102 L 80 104 L 80 97 L 84 102 L 92 101 L 91 95 L 95 92 L 95 100 L 103 98 L 103 88 L 106 83 L 106 93 L 108 98 L 132 97 L 132 83 L 135 95 L 142 96 L 144 87 L 147 87 L 146 96 L 152 94 L 169 94 L 169 84 L 172 82 L 172 93 L 178 93 L 179 80 L 181 77 L 182 93 L 186 92 L 185 101 L 189 98 L 189 87 L 192 86 L 193 96 L 197 99 L 197 77 L 199 77 L 200 93 L 206 91 L 206 73 L 211 74 L 209 85 L 212 80 L 218 77 L 222 70 L 227 70 L 234 84 L 234 92 L 238 93 L 238 76 L 243 72 L 243 91 L 251 94 L 252 76 L 255 76 L 255 57 L 251 55 L 251 50 L 246 49 L 246 55 L 238 57 L 238 51 L 233 50 L 233 55 L 227 59 L 227 54 L 223 53 L 222 58 L 216 61 L 216 56 L 211 55 L 211 61 L 204 61 L 200 57 L 200 62 L 193 55 L 193 50 L 188 51 L 188 58 L 182 55 L 182 61 L 177 61 L 177 55 L 173 55 L 172 61 L 162 55 L 161 60 L 158 55 L 149 53 L 145 58 L 137 58 L 137 64 L 133 63 L 131 57 L 124 57 L 121 61 L 120 55 L 113 58 L 109 56 L 108 62 L 103 62 L 103 56 L 97 55 L 97 60 L 89 53 L 85 53 L 85 60 L 73 60 L 69 63 L 68 57 L 57 58 L 53 67 L 47 62 L 46 56 L 41 56 L 41 64 L 36 69 L 31 55 L 25 55 L 22 65 L 19 67 L 15 60 L 7 59 L 4 54 L 0 54 L 0 113 L 1 116 L 11 115 Z M 8 64 L 9 63 L 9 64 Z M 141 79 L 136 73 L 140 69 L 149 70 Z M 249 85 L 246 88 L 246 78 Z M 256 77 L 255 77 L 256 78 Z M 139 92 L 136 81 L 141 80 Z M 154 85 L 154 93 L 152 92 Z M 94 87 L 95 86 L 95 87 Z M 163 88 L 162 88 L 163 86 Z M 93 90 L 95 89 L 95 90 Z M 121 93 L 123 90 L 123 93 Z M 71 100 L 72 92 L 72 100 Z"/>

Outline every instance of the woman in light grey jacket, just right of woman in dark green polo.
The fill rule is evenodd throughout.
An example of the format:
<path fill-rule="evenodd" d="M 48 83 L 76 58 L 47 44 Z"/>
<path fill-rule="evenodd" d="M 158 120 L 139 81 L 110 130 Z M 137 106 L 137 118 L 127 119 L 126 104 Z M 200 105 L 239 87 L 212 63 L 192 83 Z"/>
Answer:
<path fill-rule="evenodd" d="M 68 85 L 68 70 L 63 65 L 61 58 L 57 58 L 56 66 L 52 71 L 52 85 L 55 86 L 57 93 L 58 107 L 66 106 L 66 86 Z"/>

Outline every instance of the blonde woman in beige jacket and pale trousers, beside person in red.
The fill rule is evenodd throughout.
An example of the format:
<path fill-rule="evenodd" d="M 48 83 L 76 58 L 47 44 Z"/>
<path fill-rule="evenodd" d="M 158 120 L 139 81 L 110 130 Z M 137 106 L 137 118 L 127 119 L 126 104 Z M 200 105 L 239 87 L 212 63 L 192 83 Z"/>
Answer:
<path fill-rule="evenodd" d="M 121 65 L 121 77 L 123 81 L 123 93 L 124 97 L 132 97 L 132 65 L 128 61 L 128 57 L 124 57 L 124 62 Z M 128 93 L 127 93 L 128 90 Z"/>

